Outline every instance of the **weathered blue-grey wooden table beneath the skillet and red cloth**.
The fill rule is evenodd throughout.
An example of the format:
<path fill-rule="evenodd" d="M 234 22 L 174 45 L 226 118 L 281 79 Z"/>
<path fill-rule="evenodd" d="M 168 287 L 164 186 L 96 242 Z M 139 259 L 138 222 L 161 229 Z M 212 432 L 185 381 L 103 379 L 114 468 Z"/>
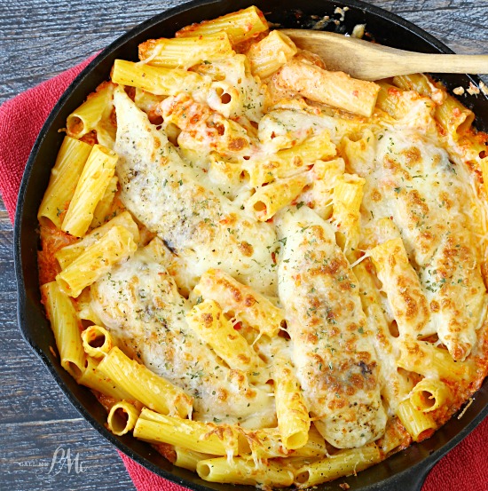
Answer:
<path fill-rule="evenodd" d="M 164 5 L 183 3 L 2 0 L 0 103 L 79 63 Z M 370 3 L 413 21 L 456 52 L 488 53 L 487 0 Z M 115 448 L 72 408 L 20 337 L 15 289 L 12 225 L 0 202 L 0 489 L 134 489 Z M 59 446 L 72 460 L 79 455 L 83 471 L 58 463 L 49 473 Z M 59 449 L 58 462 L 61 457 Z"/>

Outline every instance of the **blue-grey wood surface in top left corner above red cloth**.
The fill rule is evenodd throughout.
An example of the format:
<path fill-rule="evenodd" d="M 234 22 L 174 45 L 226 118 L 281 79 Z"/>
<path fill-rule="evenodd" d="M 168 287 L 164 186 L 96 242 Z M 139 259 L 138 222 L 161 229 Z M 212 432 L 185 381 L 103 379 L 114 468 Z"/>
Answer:
<path fill-rule="evenodd" d="M 80 63 L 166 6 L 183 3 L 4 0 L 0 66 L 7 73 L 0 83 L 0 102 Z"/>

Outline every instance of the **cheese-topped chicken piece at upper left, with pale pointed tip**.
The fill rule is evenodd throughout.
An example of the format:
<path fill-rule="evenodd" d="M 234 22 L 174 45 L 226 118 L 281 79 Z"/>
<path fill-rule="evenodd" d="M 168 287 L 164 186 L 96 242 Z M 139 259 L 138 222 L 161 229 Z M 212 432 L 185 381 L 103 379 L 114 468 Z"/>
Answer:
<path fill-rule="evenodd" d="M 114 105 L 122 201 L 169 249 L 185 257 L 192 286 L 210 268 L 220 268 L 273 294 L 273 227 L 203 186 L 123 91 L 115 91 Z"/>

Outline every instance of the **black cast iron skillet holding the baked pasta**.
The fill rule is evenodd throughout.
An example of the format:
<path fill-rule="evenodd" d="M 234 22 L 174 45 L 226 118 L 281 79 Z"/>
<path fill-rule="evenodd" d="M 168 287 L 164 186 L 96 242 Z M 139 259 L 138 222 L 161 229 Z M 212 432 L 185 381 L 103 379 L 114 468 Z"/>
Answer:
<path fill-rule="evenodd" d="M 76 384 L 75 380 L 60 367 L 59 358 L 51 352 L 50 346 L 55 346 L 55 342 L 43 313 L 37 277 L 36 252 L 39 237 L 36 214 L 48 184 L 51 166 L 63 139 L 63 134 L 58 132 L 59 128 L 65 127 L 67 115 L 83 102 L 98 83 L 108 78 L 114 59 L 136 60 L 138 44 L 148 38 L 171 37 L 177 29 L 192 22 L 213 19 L 250 4 L 256 4 L 261 8 L 268 20 L 286 28 L 311 27 L 311 24 L 317 20 L 311 18 L 311 15 L 320 17 L 329 15 L 337 19 L 338 15 L 334 13 L 335 7 L 348 6 L 350 10 L 346 13 L 345 21 L 340 26 L 329 23 L 326 29 L 350 33 L 356 24 L 366 23 L 367 32 L 380 44 L 412 51 L 453 52 L 445 44 L 438 42 L 406 20 L 357 0 L 344 0 L 340 3 L 330 0 L 308 0 L 300 5 L 301 12 L 297 12 L 298 3 L 295 0 L 196 0 L 170 9 L 147 20 L 108 46 L 83 70 L 59 99 L 30 154 L 20 186 L 15 219 L 14 254 L 18 286 L 18 317 L 26 341 L 43 360 L 46 368 L 75 408 L 106 440 L 147 469 L 195 491 L 210 489 L 249 491 L 250 487 L 205 482 L 193 472 L 174 467 L 146 443 L 129 435 L 116 437 L 108 432 L 104 426 L 105 409 L 98 404 L 88 389 Z M 467 75 L 439 75 L 438 78 L 450 89 L 458 85 L 467 87 L 469 81 L 479 82 L 475 77 L 471 78 Z M 462 102 L 475 111 L 478 129 L 488 131 L 488 99 L 480 95 L 477 98 L 462 99 Z M 362 491 L 420 490 L 432 466 L 468 435 L 484 419 L 484 416 L 488 415 L 488 380 L 476 393 L 474 399 L 461 419 L 453 416 L 429 440 L 393 455 L 388 460 L 360 472 L 357 477 L 341 479 L 340 482 L 346 481 L 350 489 Z M 337 489 L 336 483 L 319 486 L 319 491 L 332 489 Z"/>

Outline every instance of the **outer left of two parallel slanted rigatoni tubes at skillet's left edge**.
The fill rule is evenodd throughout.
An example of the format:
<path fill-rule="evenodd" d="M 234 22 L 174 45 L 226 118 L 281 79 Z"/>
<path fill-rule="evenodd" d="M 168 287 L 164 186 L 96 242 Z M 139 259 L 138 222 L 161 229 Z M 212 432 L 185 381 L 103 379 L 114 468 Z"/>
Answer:
<path fill-rule="evenodd" d="M 55 226 L 61 228 L 61 219 L 75 194 L 75 183 L 82 175 L 90 153 L 91 145 L 88 143 L 71 137 L 63 139 L 43 202 L 37 212 L 39 220 L 49 218 Z"/>

